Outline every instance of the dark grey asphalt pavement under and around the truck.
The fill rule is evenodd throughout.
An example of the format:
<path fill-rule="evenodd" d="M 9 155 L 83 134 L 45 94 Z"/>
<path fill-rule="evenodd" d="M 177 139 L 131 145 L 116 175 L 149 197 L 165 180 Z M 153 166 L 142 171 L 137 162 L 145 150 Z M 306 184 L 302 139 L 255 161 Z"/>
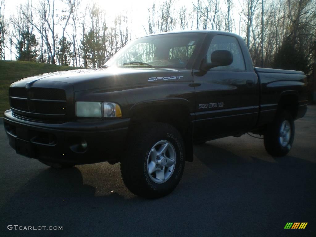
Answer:
<path fill-rule="evenodd" d="M 316 106 L 295 121 L 287 156 L 248 135 L 194 149 L 178 187 L 146 200 L 125 188 L 119 164 L 55 170 L 15 154 L 1 124 L 0 236 L 316 236 Z"/>

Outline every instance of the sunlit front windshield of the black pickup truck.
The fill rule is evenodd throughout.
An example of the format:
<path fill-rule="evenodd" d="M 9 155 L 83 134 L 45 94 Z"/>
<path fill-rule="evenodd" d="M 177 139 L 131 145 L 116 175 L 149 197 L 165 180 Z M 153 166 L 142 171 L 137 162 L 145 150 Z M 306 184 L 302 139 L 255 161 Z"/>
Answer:
<path fill-rule="evenodd" d="M 107 66 L 187 68 L 192 64 L 204 33 L 169 33 L 131 41 L 117 52 Z"/>

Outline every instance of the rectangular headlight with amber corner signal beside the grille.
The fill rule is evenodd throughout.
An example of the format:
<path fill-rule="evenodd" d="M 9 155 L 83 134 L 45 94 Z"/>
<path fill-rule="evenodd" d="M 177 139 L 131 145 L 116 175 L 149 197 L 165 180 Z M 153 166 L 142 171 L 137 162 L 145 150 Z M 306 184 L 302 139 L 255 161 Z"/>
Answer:
<path fill-rule="evenodd" d="M 121 108 L 112 102 L 76 102 L 77 117 L 111 118 L 122 117 Z"/>

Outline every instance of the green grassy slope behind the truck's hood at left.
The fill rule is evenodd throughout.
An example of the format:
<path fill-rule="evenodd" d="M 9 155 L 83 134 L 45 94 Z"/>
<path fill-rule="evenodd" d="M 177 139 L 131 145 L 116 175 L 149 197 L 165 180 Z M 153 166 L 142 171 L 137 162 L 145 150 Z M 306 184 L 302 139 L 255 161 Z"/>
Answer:
<path fill-rule="evenodd" d="M 37 74 L 77 69 L 76 67 L 26 61 L 0 60 L 0 117 L 9 106 L 9 86 L 22 78 Z"/>

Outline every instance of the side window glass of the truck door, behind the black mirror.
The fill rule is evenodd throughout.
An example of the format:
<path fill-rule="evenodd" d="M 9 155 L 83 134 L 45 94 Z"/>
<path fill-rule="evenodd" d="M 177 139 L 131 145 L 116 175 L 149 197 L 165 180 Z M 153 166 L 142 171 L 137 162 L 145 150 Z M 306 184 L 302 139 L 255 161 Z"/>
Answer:
<path fill-rule="evenodd" d="M 211 63 L 211 54 L 215 50 L 228 50 L 231 52 L 233 54 L 233 63 L 228 66 L 215 67 L 213 68 L 214 70 L 246 70 L 245 61 L 235 37 L 228 35 L 214 36 L 206 54 L 207 63 Z"/>

